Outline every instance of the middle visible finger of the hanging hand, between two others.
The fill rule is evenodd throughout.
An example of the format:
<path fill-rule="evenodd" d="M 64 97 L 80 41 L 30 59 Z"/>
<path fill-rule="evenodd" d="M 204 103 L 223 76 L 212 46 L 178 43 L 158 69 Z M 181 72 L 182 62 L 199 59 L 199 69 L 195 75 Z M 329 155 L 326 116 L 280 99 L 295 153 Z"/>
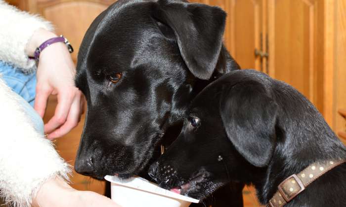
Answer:
<path fill-rule="evenodd" d="M 75 93 L 71 90 L 60 90 L 58 92 L 58 104 L 54 116 L 44 125 L 44 132 L 49 134 L 66 122 Z"/>

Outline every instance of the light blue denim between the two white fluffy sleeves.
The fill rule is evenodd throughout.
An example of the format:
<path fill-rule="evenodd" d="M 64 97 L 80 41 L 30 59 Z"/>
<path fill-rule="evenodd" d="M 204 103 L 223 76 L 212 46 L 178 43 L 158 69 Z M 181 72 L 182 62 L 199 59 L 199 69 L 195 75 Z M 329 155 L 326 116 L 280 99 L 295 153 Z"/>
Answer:
<path fill-rule="evenodd" d="M 20 96 L 20 104 L 34 123 L 36 131 L 43 134 L 43 120 L 33 108 L 36 95 L 36 73 L 25 74 L 10 64 L 0 61 L 0 74 L 6 84 Z"/>

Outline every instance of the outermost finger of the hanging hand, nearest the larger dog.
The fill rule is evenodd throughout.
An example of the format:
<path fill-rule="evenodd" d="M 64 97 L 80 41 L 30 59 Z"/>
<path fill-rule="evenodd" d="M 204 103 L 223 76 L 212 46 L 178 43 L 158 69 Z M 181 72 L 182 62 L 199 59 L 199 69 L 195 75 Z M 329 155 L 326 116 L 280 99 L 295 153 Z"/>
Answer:
<path fill-rule="evenodd" d="M 78 125 L 81 118 L 81 107 L 80 107 L 81 104 L 80 103 L 81 103 L 81 96 L 76 96 L 71 105 L 66 122 L 60 128 L 49 133 L 47 137 L 48 139 L 62 137 L 66 135 L 67 133 L 69 133 L 73 128 L 75 128 Z"/>

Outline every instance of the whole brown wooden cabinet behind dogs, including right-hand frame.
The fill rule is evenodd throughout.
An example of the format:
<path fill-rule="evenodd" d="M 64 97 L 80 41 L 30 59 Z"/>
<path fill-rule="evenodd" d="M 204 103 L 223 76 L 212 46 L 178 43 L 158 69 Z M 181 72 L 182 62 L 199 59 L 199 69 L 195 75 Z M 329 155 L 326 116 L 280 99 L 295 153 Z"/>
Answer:
<path fill-rule="evenodd" d="M 224 42 L 243 69 L 298 89 L 346 142 L 346 0 L 192 1 L 227 12 Z"/>

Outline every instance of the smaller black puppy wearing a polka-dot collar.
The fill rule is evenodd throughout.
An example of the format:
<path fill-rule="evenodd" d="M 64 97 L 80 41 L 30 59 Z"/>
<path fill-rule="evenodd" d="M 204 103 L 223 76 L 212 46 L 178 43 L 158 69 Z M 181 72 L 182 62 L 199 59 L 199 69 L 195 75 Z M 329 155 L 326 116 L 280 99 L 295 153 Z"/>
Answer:
<path fill-rule="evenodd" d="M 267 204 L 291 174 L 316 161 L 346 159 L 344 144 L 302 94 L 255 70 L 232 71 L 211 83 L 192 101 L 188 117 L 150 174 L 194 198 L 237 180 L 254 184 Z M 344 163 L 286 206 L 345 207 L 345 195 Z"/>

